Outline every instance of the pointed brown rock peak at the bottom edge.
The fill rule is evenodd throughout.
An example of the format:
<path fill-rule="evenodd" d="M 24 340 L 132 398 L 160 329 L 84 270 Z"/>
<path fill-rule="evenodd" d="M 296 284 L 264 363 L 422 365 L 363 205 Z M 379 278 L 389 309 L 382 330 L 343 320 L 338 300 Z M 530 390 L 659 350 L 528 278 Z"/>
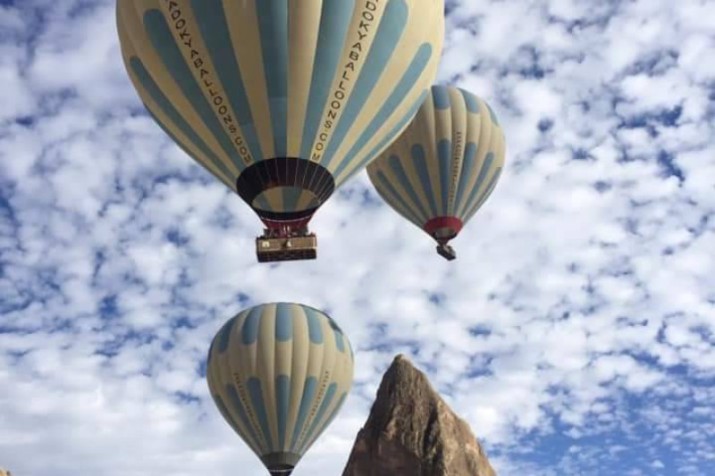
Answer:
<path fill-rule="evenodd" d="M 496 476 L 469 429 L 425 374 L 398 355 L 343 476 Z"/>

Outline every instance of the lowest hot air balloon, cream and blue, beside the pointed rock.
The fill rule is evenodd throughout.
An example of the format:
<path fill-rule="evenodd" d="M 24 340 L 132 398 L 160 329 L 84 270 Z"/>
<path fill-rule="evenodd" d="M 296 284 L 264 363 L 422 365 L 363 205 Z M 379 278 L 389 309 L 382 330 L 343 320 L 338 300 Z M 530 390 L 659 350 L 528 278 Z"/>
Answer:
<path fill-rule="evenodd" d="M 216 406 L 273 476 L 290 475 L 337 415 L 352 379 L 347 337 L 301 304 L 244 310 L 219 330 L 208 355 Z"/>

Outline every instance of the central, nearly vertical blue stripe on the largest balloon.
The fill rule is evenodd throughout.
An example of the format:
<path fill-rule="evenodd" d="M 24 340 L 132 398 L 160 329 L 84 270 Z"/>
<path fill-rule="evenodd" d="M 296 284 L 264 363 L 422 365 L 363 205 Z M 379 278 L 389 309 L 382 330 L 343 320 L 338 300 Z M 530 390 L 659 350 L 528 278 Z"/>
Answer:
<path fill-rule="evenodd" d="M 277 157 L 288 148 L 288 0 L 255 2 Z"/>

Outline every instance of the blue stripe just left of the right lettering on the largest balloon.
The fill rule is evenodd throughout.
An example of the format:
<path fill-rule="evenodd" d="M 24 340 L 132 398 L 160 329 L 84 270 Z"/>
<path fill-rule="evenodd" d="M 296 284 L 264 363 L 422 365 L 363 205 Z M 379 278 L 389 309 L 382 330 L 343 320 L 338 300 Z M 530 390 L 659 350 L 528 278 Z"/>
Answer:
<path fill-rule="evenodd" d="M 340 63 L 354 9 L 355 0 L 323 1 L 313 77 L 308 96 L 308 110 L 306 111 L 300 148 L 300 155 L 304 159 L 310 159 L 310 149 L 318 133 L 320 120 L 328 102 L 330 86 Z"/>

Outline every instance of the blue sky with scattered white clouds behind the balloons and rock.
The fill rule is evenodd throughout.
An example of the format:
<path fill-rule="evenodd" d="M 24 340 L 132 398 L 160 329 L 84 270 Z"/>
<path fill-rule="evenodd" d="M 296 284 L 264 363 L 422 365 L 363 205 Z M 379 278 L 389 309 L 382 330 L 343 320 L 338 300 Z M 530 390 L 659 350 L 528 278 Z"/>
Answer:
<path fill-rule="evenodd" d="M 500 475 L 715 474 L 715 2 L 447 0 L 438 82 L 505 130 L 444 261 L 366 173 L 259 264 L 259 220 L 172 144 L 111 0 L 0 0 L 0 467 L 264 475 L 208 394 L 227 319 L 295 301 L 356 351 L 294 472 L 339 475 L 397 353 Z"/>

